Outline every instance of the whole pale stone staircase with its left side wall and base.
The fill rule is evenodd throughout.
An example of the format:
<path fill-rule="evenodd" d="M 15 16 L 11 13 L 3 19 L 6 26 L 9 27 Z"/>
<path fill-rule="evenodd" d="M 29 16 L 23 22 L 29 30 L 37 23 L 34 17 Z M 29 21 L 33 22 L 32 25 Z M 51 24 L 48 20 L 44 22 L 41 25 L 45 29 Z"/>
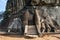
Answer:
<path fill-rule="evenodd" d="M 25 28 L 25 36 L 29 36 L 29 37 L 37 37 L 37 30 L 35 25 L 29 25 L 28 27 Z"/>

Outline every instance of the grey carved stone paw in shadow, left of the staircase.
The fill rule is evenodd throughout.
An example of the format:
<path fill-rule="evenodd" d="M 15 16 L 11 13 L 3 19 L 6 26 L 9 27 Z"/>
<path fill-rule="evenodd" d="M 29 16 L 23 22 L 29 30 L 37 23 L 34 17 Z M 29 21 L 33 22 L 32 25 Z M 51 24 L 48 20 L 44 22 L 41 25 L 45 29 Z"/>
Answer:
<path fill-rule="evenodd" d="M 13 21 L 9 22 L 8 32 L 20 32 L 20 34 L 23 33 L 22 21 L 20 18 L 14 18 Z"/>

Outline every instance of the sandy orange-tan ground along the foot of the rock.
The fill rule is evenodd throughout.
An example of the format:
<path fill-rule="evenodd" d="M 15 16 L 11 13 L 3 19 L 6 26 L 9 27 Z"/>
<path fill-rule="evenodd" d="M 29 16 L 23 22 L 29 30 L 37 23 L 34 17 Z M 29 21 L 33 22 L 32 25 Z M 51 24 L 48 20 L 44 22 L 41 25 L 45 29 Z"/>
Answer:
<path fill-rule="evenodd" d="M 38 37 L 38 38 L 26 38 L 17 35 L 0 35 L 0 40 L 60 40 L 60 34 L 45 35 L 44 37 Z"/>

